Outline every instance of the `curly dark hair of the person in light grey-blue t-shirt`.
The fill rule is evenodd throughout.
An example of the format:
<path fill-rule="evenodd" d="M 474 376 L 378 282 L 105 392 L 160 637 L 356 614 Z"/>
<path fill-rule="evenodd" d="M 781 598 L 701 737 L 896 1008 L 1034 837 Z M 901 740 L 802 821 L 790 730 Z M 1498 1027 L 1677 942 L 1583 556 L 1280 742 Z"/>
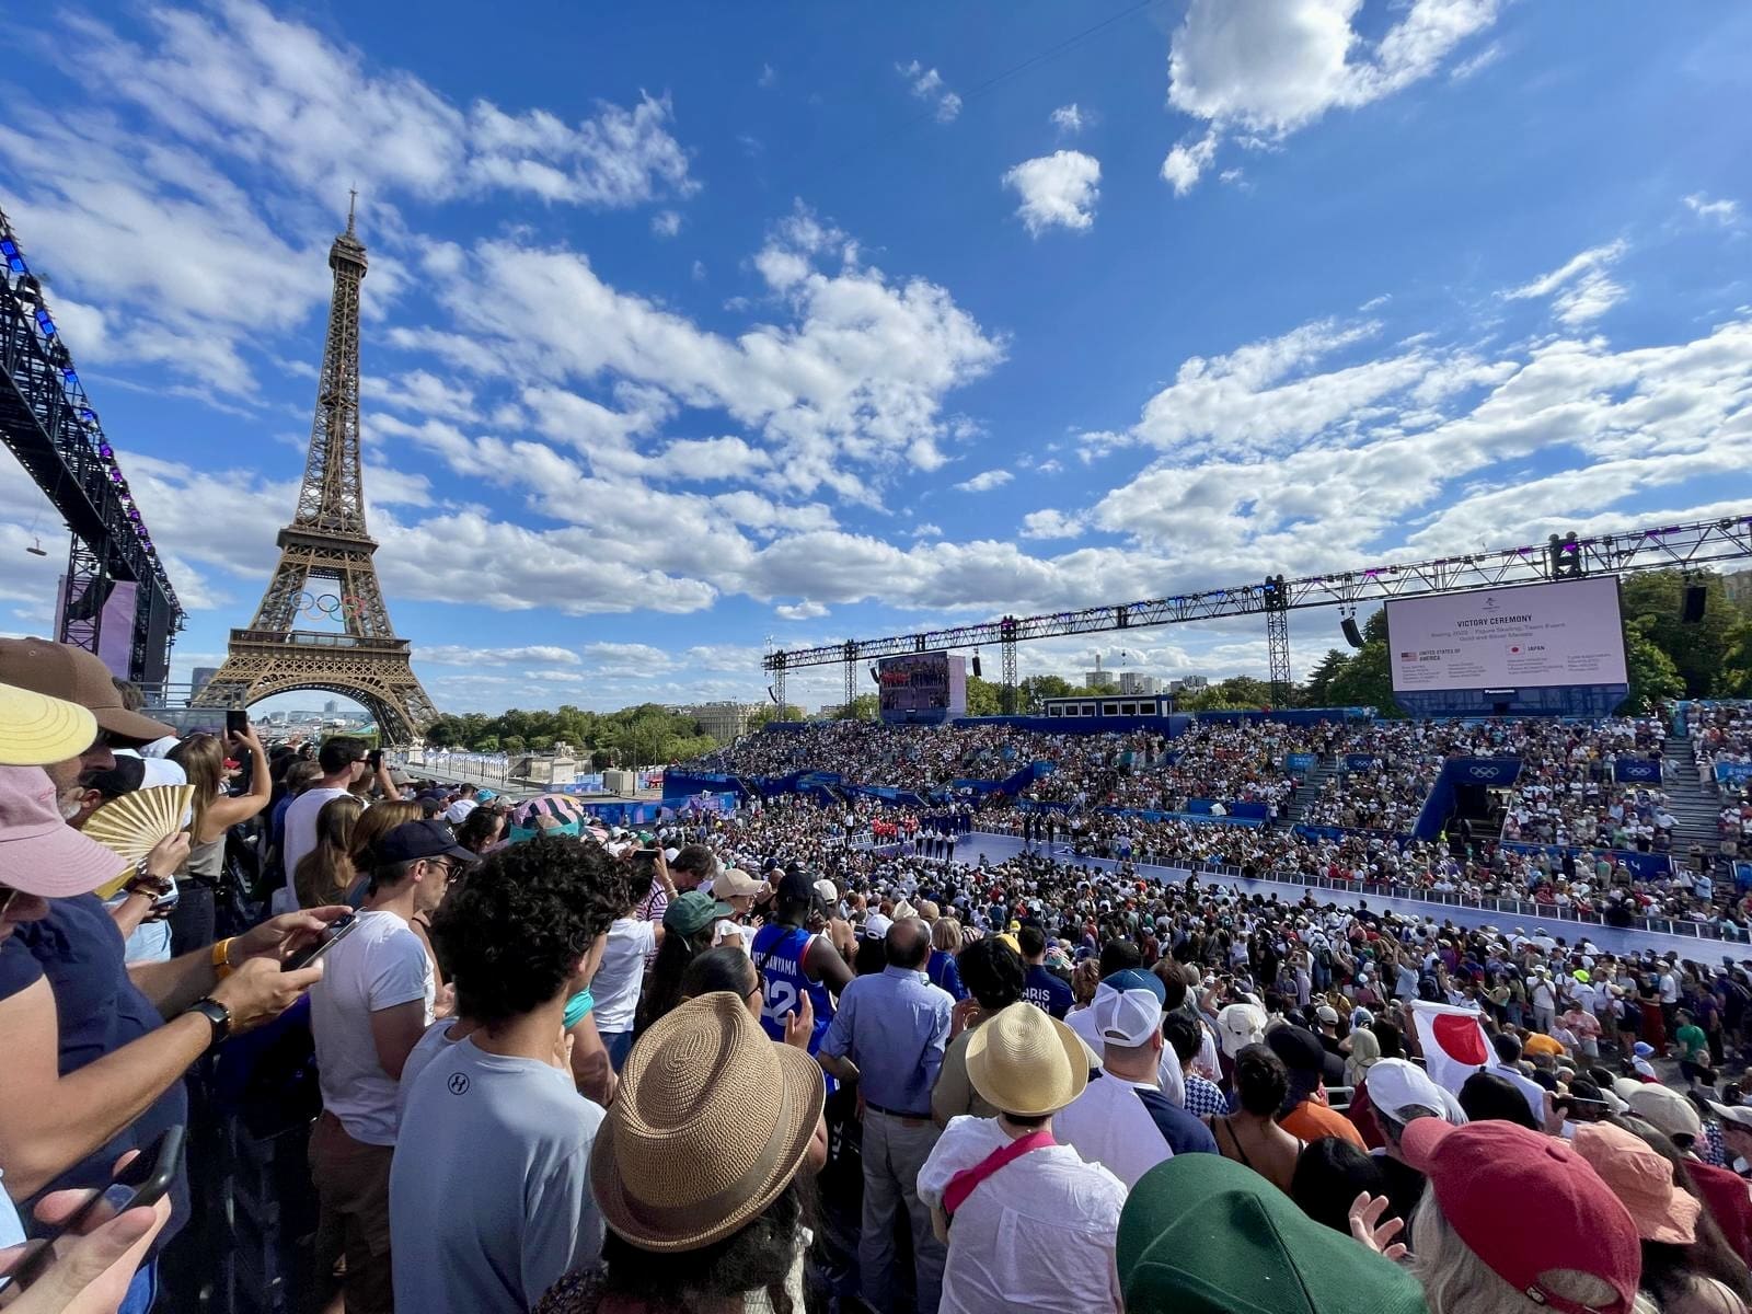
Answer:
<path fill-rule="evenodd" d="M 484 860 L 433 915 L 457 1013 L 491 1025 L 554 999 L 631 902 L 631 881 L 624 862 L 571 837 L 531 839 Z"/>

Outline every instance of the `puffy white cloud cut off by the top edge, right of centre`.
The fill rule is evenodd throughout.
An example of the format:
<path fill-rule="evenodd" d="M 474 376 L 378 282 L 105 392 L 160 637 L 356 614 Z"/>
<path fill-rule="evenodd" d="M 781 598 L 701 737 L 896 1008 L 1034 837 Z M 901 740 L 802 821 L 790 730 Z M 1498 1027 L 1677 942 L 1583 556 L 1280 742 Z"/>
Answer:
<path fill-rule="evenodd" d="M 1181 144 L 1163 177 L 1186 194 L 1232 131 L 1261 142 L 1328 110 L 1358 109 L 1423 81 L 1496 21 L 1498 0 L 1409 0 L 1370 40 L 1361 0 L 1191 0 L 1169 51 L 1169 105 L 1211 133 Z"/>

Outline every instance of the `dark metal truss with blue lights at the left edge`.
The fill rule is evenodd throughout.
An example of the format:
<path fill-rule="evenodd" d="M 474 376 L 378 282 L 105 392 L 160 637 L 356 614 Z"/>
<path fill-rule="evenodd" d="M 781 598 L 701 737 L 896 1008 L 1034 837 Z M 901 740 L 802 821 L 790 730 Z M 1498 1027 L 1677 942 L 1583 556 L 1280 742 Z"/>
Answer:
<path fill-rule="evenodd" d="M 182 604 L 4 212 L 0 375 L 0 442 L 72 531 L 56 639 L 98 652 L 103 604 L 117 582 L 133 582 L 126 675 L 161 682 L 182 629 Z M 117 650 L 112 643 L 103 648 Z"/>

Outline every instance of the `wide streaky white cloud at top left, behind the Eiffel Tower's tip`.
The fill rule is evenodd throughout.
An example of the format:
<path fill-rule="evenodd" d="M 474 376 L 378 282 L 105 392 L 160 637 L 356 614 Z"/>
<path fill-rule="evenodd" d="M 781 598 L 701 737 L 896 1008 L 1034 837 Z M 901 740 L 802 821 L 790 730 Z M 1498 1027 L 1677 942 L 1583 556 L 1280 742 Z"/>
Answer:
<path fill-rule="evenodd" d="M 249 0 L 147 9 L 138 40 L 61 12 L 37 53 L 84 102 L 47 114 L 0 88 L 7 210 L 54 275 L 81 363 L 138 366 L 154 389 L 224 406 L 254 398 L 252 352 L 303 361 L 277 340 L 328 298 L 324 251 L 350 186 L 373 247 L 368 319 L 412 282 L 398 245 L 417 245 L 431 277 L 459 258 L 406 235 L 398 198 L 624 207 L 697 189 L 668 100 L 576 123 L 464 109 Z"/>

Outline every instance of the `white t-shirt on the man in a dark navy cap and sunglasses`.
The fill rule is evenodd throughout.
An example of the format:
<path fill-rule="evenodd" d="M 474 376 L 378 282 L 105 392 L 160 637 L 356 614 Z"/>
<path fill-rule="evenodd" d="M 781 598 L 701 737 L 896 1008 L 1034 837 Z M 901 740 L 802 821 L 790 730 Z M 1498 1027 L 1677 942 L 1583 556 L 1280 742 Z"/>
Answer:
<path fill-rule="evenodd" d="M 310 990 L 322 1107 L 347 1135 L 396 1144 L 396 1079 L 377 1062 L 371 1014 L 422 1000 L 433 1020 L 433 965 L 419 936 L 394 913 L 359 913 L 359 929 L 322 960 Z"/>

